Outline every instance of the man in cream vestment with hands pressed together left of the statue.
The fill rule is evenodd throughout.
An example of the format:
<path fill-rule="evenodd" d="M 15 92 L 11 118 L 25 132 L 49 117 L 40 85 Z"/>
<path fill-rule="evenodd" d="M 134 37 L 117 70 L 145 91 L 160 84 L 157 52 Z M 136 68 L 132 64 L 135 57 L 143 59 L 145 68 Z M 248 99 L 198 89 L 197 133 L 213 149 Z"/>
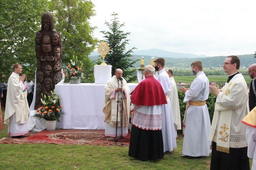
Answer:
<path fill-rule="evenodd" d="M 24 80 L 26 75 L 19 76 L 22 72 L 21 64 L 13 65 L 13 72 L 8 79 L 6 108 L 4 122 L 8 126 L 8 135 L 12 138 L 23 138 L 29 132 L 27 89 Z"/>

